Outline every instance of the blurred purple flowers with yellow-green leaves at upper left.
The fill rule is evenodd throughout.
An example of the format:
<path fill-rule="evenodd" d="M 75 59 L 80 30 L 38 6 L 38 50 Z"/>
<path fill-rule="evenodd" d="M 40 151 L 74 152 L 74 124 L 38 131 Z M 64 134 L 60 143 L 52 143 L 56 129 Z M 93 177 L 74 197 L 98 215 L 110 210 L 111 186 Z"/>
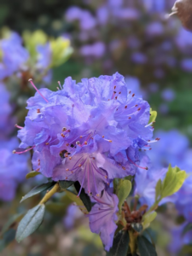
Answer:
<path fill-rule="evenodd" d="M 66 38 L 49 39 L 42 31 L 16 32 L 3 30 L 0 39 L 0 80 L 16 74 L 21 84 L 30 77 L 45 84 L 51 82 L 51 68 L 61 65 L 73 52 Z M 23 44 L 25 46 L 23 46 Z"/>

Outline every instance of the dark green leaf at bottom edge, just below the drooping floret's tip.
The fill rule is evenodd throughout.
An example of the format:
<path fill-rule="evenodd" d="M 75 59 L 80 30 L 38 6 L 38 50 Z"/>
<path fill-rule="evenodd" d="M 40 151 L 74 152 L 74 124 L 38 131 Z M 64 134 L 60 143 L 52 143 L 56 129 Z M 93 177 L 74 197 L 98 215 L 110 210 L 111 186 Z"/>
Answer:
<path fill-rule="evenodd" d="M 114 236 L 113 247 L 106 254 L 106 256 L 126 256 L 129 248 L 129 234 L 128 231 L 119 231 L 119 233 Z"/>

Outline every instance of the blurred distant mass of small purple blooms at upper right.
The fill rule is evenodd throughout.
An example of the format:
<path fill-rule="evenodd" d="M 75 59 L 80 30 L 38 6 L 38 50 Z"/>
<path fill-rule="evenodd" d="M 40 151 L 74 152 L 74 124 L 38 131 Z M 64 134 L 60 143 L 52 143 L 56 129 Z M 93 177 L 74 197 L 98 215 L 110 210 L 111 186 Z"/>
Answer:
<path fill-rule="evenodd" d="M 176 70 L 178 74 L 189 73 L 192 67 L 191 33 L 174 16 L 166 18 L 174 3 L 90 1 L 84 9 L 67 9 L 65 19 L 71 25 L 73 44 L 84 61 L 93 65 L 99 61 L 98 66 L 106 73 L 113 69 L 126 74 L 129 70 L 145 86 L 161 82 L 165 86 L 167 77 L 172 76 L 173 81 Z"/>

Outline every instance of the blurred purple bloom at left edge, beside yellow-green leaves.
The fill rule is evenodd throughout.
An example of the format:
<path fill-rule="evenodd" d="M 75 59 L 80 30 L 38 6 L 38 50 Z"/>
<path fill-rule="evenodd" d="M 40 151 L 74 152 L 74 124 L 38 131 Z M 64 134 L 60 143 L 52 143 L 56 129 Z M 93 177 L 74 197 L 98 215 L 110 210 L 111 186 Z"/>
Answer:
<path fill-rule="evenodd" d="M 17 33 L 12 32 L 9 38 L 0 40 L 0 50 L 3 55 L 0 62 L 1 80 L 25 67 L 29 55 Z"/>

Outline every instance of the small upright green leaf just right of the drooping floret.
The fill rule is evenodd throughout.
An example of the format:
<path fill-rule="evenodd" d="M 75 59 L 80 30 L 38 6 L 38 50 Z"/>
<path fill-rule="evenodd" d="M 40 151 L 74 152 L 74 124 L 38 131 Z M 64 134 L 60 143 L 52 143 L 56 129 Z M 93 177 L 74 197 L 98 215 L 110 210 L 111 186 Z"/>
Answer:
<path fill-rule="evenodd" d="M 117 195 L 119 198 L 119 212 L 121 212 L 121 207 L 125 201 L 125 199 L 130 195 L 131 192 L 131 181 L 129 180 L 122 180 L 119 183 Z"/>

